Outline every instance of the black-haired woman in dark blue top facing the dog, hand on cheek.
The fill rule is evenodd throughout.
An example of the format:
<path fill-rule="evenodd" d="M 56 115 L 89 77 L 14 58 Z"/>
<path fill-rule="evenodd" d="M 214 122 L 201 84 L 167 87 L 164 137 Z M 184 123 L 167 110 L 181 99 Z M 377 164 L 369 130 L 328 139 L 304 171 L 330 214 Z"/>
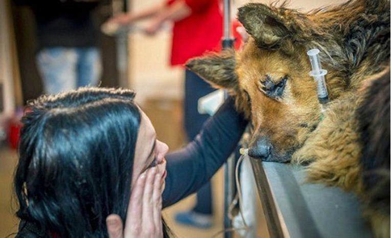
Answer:
<path fill-rule="evenodd" d="M 130 90 L 82 88 L 30 103 L 14 179 L 17 237 L 107 237 L 107 227 L 120 237 L 122 221 L 125 237 L 169 237 L 162 204 L 209 181 L 246 121 L 229 99 L 193 142 L 166 156 L 133 98 Z"/>

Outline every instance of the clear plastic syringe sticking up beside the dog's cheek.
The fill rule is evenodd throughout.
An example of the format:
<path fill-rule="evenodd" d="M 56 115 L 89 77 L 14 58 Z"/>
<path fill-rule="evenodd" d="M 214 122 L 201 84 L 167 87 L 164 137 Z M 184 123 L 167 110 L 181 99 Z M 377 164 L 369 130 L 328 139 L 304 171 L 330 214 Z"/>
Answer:
<path fill-rule="evenodd" d="M 320 103 L 329 102 L 329 96 L 327 93 L 327 86 L 325 75 L 327 74 L 327 70 L 321 68 L 320 58 L 319 58 L 319 50 L 312 49 L 307 51 L 307 55 L 310 57 L 312 71 L 310 72 L 310 76 L 312 76 L 317 82 L 317 93 L 318 99 Z"/>

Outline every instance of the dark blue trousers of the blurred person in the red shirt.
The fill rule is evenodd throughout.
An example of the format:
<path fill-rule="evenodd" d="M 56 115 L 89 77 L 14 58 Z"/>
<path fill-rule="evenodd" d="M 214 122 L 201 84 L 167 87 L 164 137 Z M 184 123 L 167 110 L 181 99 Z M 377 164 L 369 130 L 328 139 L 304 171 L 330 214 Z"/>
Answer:
<path fill-rule="evenodd" d="M 198 99 L 212 93 L 215 89 L 190 70 L 185 72 L 185 130 L 188 140 L 192 141 L 201 131 L 203 123 L 209 115 L 198 113 Z M 197 192 L 197 203 L 193 211 L 212 214 L 212 187 L 208 181 Z"/>

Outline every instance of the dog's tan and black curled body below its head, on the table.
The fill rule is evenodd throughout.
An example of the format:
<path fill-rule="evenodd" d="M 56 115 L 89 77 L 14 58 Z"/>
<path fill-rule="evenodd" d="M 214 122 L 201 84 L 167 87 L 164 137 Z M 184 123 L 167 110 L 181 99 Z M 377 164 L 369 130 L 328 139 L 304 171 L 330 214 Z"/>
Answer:
<path fill-rule="evenodd" d="M 356 192 L 375 237 L 389 237 L 389 68 L 329 105 L 325 119 L 293 154 L 309 182 Z"/>

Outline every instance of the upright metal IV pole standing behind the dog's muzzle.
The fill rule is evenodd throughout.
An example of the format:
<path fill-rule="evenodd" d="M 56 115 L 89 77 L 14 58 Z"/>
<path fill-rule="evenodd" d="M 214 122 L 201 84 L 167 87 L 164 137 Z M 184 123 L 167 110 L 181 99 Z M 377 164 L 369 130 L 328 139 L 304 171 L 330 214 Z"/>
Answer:
<path fill-rule="evenodd" d="M 232 37 L 232 24 L 231 24 L 231 0 L 223 0 L 223 38 L 222 48 L 232 48 L 234 46 L 235 39 Z M 226 92 L 224 92 L 227 97 Z M 235 196 L 235 155 L 228 158 L 224 165 L 224 230 L 232 228 L 231 220 L 228 218 L 229 205 L 234 200 Z M 232 232 L 224 232 L 224 238 L 231 238 Z"/>

